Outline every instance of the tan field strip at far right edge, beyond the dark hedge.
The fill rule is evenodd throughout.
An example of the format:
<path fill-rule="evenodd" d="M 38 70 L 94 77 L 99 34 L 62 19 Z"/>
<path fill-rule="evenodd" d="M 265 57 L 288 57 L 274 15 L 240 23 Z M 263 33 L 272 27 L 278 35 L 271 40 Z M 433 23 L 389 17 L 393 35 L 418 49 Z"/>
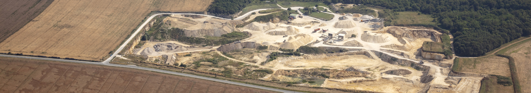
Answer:
<path fill-rule="evenodd" d="M 531 59 L 531 41 L 517 45 L 505 53 L 515 59 L 522 92 L 531 92 L 531 62 L 529 62 Z"/>

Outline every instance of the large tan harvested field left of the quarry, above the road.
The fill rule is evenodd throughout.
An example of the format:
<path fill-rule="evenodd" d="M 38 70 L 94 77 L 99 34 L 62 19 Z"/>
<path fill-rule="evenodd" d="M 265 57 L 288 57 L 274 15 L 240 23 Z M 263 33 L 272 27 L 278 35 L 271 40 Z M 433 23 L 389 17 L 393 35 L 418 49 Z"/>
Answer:
<path fill-rule="evenodd" d="M 100 61 L 151 11 L 202 12 L 212 0 L 55 0 L 0 52 Z M 194 7 L 194 8 L 190 8 Z"/>

